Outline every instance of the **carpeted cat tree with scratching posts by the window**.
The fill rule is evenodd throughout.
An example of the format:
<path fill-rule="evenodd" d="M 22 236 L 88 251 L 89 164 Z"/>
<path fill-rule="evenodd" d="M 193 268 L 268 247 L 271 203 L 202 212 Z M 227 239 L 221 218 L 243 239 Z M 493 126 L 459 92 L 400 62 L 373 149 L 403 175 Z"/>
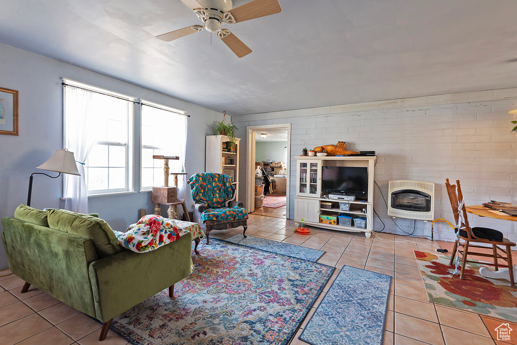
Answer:
<path fill-rule="evenodd" d="M 154 155 L 153 159 L 163 159 L 163 187 L 153 187 L 153 203 L 155 204 L 155 215 L 161 215 L 161 204 L 169 205 L 167 211 L 168 217 L 178 219 L 176 207 L 181 205 L 187 221 L 190 221 L 185 200 L 176 199 L 178 189 L 178 175 L 186 175 L 187 173 L 170 173 L 169 159 L 179 160 L 178 156 L 159 156 Z M 169 186 L 169 175 L 173 175 L 174 186 Z"/>

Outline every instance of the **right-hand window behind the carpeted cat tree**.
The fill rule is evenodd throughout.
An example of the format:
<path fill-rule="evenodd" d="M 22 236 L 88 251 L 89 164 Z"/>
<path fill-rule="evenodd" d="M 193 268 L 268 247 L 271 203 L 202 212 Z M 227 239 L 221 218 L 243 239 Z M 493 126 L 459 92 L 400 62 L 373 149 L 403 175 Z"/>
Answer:
<path fill-rule="evenodd" d="M 153 155 L 178 156 L 169 160 L 170 173 L 185 171 L 185 147 L 187 142 L 187 115 L 185 112 L 141 100 L 141 190 L 163 186 L 163 160 Z M 179 189 L 183 190 L 185 179 L 178 176 Z M 172 186 L 172 179 L 169 186 Z M 178 191 L 178 194 L 180 191 Z"/>

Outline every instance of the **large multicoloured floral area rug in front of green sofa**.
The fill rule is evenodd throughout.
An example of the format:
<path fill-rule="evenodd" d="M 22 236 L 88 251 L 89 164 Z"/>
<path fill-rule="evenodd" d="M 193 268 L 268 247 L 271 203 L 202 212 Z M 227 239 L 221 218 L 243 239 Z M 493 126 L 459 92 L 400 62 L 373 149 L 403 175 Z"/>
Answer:
<path fill-rule="evenodd" d="M 192 256 L 195 270 L 174 299 L 163 290 L 111 329 L 132 344 L 286 345 L 334 267 L 212 241 Z"/>

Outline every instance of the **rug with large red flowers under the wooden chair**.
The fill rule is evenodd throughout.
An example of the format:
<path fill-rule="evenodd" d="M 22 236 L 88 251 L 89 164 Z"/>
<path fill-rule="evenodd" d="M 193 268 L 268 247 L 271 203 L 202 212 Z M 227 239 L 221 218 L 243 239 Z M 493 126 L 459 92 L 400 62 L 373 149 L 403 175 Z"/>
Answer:
<path fill-rule="evenodd" d="M 467 262 L 460 279 L 450 273 L 450 257 L 417 250 L 415 257 L 430 302 L 517 322 L 517 290 L 508 280 L 482 277 L 482 262 Z"/>

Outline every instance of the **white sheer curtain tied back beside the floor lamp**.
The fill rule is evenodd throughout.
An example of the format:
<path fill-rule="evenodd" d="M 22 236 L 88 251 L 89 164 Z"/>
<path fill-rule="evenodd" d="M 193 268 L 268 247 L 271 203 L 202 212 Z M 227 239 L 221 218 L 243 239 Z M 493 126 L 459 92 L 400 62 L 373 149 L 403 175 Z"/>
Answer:
<path fill-rule="evenodd" d="M 74 153 L 80 162 L 77 168 L 81 176 L 65 174 L 65 208 L 73 212 L 88 213 L 88 187 L 84 173 L 84 162 L 97 142 L 98 117 L 93 110 L 95 93 L 67 85 L 65 93 L 65 148 Z"/>

